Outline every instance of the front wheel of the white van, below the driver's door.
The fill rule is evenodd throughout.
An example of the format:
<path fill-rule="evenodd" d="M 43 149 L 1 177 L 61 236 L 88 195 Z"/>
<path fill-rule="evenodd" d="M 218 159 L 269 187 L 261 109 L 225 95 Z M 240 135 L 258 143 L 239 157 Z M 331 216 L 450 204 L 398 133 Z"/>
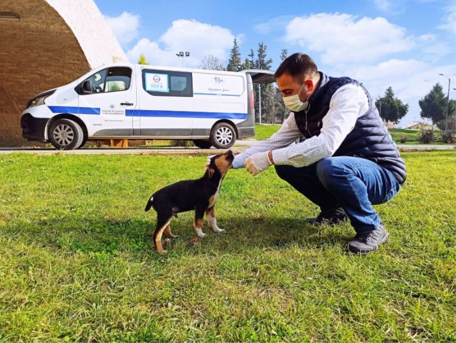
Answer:
<path fill-rule="evenodd" d="M 58 150 L 78 149 L 84 132 L 79 124 L 70 119 L 58 119 L 52 123 L 48 132 L 49 142 Z"/>

